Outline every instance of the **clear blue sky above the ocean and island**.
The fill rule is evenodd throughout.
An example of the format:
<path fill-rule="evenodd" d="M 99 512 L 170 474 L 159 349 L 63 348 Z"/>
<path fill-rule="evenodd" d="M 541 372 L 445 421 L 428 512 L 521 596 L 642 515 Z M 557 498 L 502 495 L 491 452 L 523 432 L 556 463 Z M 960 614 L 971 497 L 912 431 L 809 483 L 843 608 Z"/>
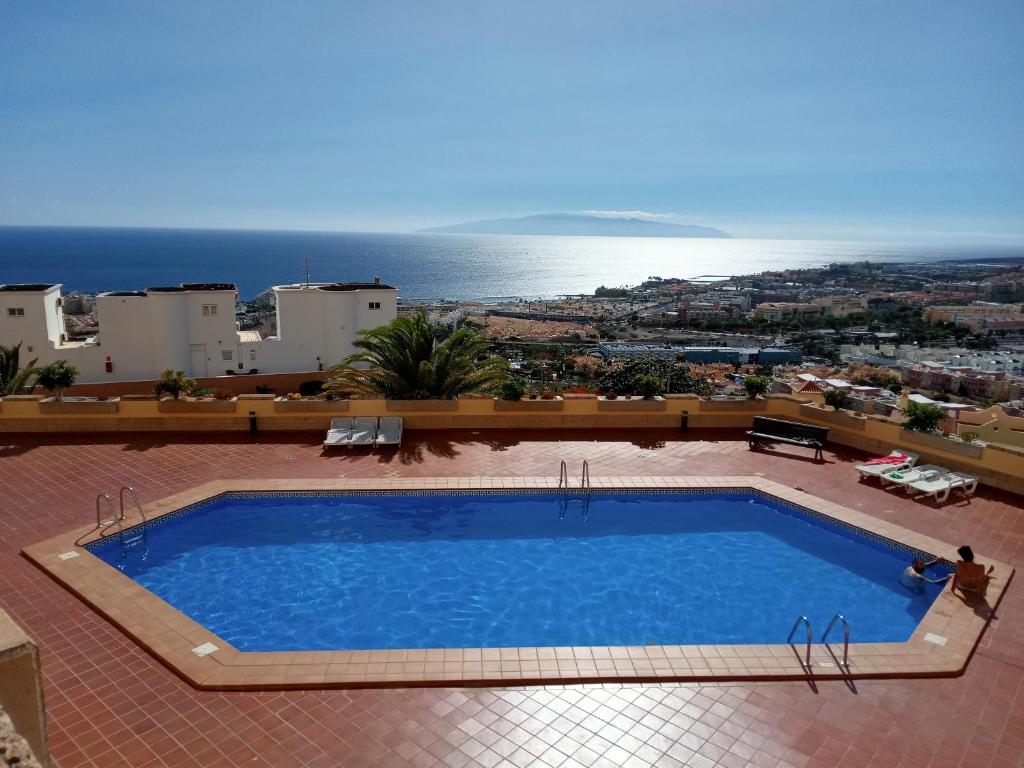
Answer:
<path fill-rule="evenodd" d="M 0 223 L 1024 242 L 1024 3 L 6 2 Z"/>

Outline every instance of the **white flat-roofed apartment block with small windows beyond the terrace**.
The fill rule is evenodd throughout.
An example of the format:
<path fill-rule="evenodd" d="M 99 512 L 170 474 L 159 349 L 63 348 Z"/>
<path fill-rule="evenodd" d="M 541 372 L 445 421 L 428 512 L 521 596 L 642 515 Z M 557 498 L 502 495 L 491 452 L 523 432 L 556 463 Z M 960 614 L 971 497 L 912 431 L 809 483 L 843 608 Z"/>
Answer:
<path fill-rule="evenodd" d="M 397 291 L 373 283 L 274 286 L 276 334 L 240 331 L 238 291 L 186 283 L 96 297 L 99 332 L 69 341 L 59 285 L 0 286 L 0 344 L 22 343 L 22 360 L 65 359 L 87 383 L 156 379 L 165 369 L 191 377 L 293 373 L 329 368 L 356 351 L 360 330 L 397 315 Z"/>

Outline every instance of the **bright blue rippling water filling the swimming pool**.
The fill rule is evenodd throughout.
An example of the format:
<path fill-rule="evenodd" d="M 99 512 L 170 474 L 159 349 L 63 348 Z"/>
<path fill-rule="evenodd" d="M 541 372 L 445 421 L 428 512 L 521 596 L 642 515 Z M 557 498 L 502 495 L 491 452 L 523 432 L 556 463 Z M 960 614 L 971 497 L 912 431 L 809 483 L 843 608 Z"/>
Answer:
<path fill-rule="evenodd" d="M 837 611 L 901 642 L 940 591 L 751 493 L 228 495 L 147 539 L 91 549 L 241 650 L 780 643 Z"/>

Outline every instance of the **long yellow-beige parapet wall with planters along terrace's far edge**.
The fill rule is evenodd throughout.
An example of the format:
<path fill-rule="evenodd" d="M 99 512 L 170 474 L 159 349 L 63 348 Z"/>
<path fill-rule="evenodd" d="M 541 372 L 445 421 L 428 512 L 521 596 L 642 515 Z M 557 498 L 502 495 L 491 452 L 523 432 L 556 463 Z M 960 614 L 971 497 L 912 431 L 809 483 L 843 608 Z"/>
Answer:
<path fill-rule="evenodd" d="M 106 401 L 55 403 L 39 395 L 0 401 L 0 432 L 195 432 L 247 431 L 250 416 L 260 431 L 326 430 L 335 416 L 400 416 L 407 429 L 689 429 L 748 428 L 755 416 L 826 426 L 829 440 L 869 453 L 905 449 L 928 463 L 978 475 L 983 482 L 1024 494 L 1024 447 L 955 442 L 903 430 L 896 422 L 822 407 L 811 398 L 768 395 L 758 400 L 707 400 L 668 395 L 663 400 L 602 400 L 566 395 L 564 400 L 522 400 L 516 410 L 490 397 L 457 401 L 384 399 L 283 400 L 239 395 L 229 400 L 158 401 L 127 395 Z M 642 436 L 638 433 L 637 436 Z M 837 468 L 837 471 L 842 469 Z"/>

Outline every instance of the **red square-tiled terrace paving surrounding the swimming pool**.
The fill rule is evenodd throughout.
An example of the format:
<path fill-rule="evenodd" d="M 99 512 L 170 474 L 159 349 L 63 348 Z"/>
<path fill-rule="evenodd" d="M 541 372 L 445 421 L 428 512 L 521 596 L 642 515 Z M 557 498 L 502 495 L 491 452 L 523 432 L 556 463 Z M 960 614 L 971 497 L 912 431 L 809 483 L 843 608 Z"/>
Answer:
<path fill-rule="evenodd" d="M 561 433 L 565 435 L 565 433 Z M 0 437 L 0 605 L 40 642 L 54 764 L 74 766 L 1021 766 L 1024 592 L 962 678 L 842 683 L 199 692 L 18 556 L 88 522 L 100 490 L 143 502 L 210 479 L 763 474 L 1024 565 L 1024 499 L 935 508 L 861 484 L 862 455 L 748 452 L 738 431 L 410 432 L 397 455 L 324 456 L 318 435 Z M 816 689 L 815 689 L 816 688 Z"/>

